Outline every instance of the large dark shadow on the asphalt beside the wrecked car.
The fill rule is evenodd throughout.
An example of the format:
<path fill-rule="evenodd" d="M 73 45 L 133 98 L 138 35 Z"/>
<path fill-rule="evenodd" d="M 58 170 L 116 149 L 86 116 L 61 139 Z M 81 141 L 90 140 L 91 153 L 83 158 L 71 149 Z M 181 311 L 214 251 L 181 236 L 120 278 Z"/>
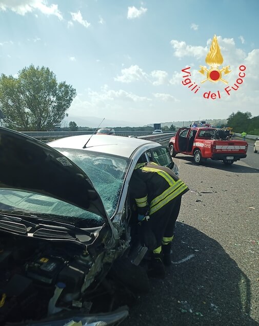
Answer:
<path fill-rule="evenodd" d="M 249 316 L 250 281 L 217 241 L 177 222 L 172 249 L 166 279 L 152 279 L 122 326 L 259 325 Z"/>

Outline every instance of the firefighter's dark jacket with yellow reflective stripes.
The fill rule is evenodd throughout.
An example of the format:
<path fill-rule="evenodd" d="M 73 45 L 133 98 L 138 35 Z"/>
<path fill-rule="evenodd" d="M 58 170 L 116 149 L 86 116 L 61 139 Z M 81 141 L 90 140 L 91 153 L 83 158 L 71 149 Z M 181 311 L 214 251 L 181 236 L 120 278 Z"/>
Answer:
<path fill-rule="evenodd" d="M 130 180 L 130 194 L 141 215 L 156 213 L 188 190 L 168 167 L 153 162 L 137 164 Z"/>

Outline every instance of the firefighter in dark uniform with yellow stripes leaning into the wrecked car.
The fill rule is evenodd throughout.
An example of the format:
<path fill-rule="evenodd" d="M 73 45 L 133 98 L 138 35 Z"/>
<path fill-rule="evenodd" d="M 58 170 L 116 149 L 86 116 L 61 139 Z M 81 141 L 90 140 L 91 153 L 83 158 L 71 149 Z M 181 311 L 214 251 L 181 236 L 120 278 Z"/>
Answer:
<path fill-rule="evenodd" d="M 148 275 L 164 278 L 170 265 L 171 242 L 182 196 L 189 190 L 168 167 L 139 163 L 130 180 L 137 207 L 140 240 L 152 250 Z"/>

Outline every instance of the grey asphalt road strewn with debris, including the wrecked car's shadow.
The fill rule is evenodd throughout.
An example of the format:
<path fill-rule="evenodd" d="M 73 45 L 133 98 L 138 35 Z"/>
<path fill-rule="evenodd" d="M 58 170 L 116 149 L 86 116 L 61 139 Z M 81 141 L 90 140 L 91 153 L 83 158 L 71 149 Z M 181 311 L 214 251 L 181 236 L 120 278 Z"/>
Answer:
<path fill-rule="evenodd" d="M 123 326 L 259 325 L 259 154 L 232 166 L 174 159 L 185 194 L 165 280 L 130 308 Z"/>

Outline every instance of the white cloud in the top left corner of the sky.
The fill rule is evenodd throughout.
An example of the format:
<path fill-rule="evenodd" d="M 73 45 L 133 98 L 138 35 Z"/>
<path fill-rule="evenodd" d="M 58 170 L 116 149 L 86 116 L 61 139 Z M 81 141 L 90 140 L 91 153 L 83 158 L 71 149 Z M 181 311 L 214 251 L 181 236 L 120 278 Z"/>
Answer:
<path fill-rule="evenodd" d="M 0 0 L 0 10 L 11 10 L 19 15 L 39 10 L 46 15 L 55 15 L 59 20 L 63 20 L 57 5 L 47 5 L 45 0 Z"/>

